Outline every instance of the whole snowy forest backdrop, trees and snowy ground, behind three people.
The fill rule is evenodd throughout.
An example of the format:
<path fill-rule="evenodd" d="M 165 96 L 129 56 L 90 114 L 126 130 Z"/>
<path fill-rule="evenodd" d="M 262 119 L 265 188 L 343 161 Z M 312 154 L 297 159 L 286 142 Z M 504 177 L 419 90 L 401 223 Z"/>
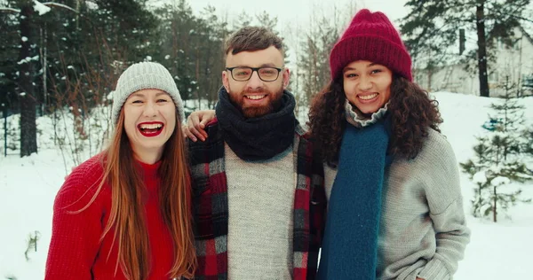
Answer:
<path fill-rule="evenodd" d="M 533 250 L 533 4 L 404 2 L 407 14 L 394 24 L 413 58 L 415 82 L 423 73 L 431 84 L 431 76 L 447 73 L 443 69 L 453 62 L 479 88 L 473 94 L 426 86 L 441 106 L 442 132 L 457 155 L 473 229 L 457 279 L 527 278 L 525 260 Z M 72 167 L 106 145 L 111 92 L 127 66 L 159 62 L 174 77 L 186 113 L 213 108 L 227 35 L 244 26 L 269 27 L 285 39 L 289 89 L 305 122 L 311 97 L 330 80 L 333 44 L 364 7 L 355 0 L 331 5 L 330 12 L 316 9 L 305 27 L 288 27 L 268 12 L 243 9 L 228 17 L 212 5 L 194 11 L 187 0 L 0 0 L 0 279 L 44 275 L 53 198 Z M 519 74 L 502 74 L 500 51 L 522 47 Z M 493 82 L 497 70 L 502 79 Z M 501 262 L 493 255 L 507 253 L 515 257 Z"/>

